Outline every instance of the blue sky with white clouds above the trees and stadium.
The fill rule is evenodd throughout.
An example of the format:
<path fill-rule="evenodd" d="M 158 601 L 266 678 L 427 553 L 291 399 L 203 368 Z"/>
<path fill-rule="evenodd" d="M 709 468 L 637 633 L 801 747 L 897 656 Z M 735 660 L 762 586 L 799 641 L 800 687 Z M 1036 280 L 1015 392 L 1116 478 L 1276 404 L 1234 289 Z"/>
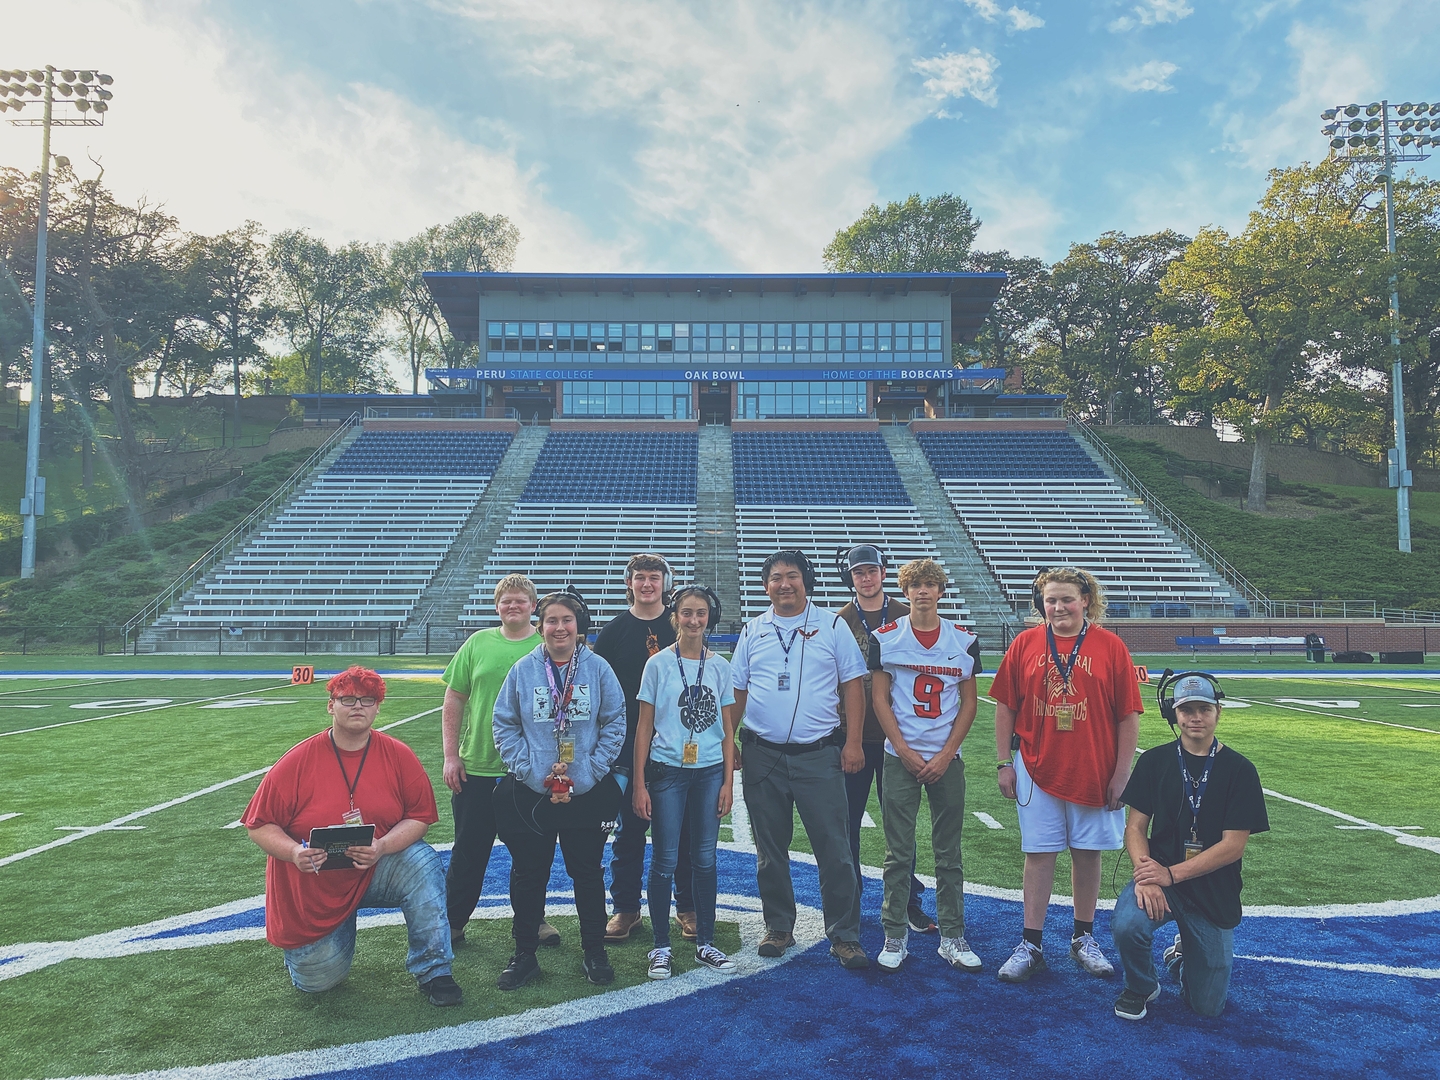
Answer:
<path fill-rule="evenodd" d="M 55 151 L 124 197 L 333 240 L 505 213 L 531 271 L 812 271 L 912 192 L 1048 259 L 1236 228 L 1266 170 L 1322 156 L 1322 108 L 1440 98 L 1440 0 L 16 7 L 0 66 L 115 76 L 107 127 Z M 37 132 L 0 128 L 33 168 Z"/>

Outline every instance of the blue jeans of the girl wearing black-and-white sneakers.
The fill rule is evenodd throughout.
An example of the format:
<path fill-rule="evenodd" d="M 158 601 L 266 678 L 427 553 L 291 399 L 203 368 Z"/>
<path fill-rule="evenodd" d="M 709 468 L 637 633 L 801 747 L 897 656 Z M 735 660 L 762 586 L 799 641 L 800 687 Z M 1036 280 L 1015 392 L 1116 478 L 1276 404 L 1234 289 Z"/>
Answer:
<path fill-rule="evenodd" d="M 658 763 L 657 763 L 658 765 Z M 720 838 L 720 788 L 724 765 L 681 769 L 658 765 L 664 775 L 649 789 L 649 929 L 655 948 L 670 948 L 670 890 L 680 858 L 680 834 L 690 827 L 690 874 L 696 901 L 696 945 L 716 940 L 716 841 Z"/>

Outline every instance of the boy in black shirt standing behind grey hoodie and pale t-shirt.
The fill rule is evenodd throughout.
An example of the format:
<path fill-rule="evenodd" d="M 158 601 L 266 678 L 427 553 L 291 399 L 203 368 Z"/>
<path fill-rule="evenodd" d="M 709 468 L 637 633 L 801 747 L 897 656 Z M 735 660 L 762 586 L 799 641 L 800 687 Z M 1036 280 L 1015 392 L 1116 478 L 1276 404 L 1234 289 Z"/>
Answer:
<path fill-rule="evenodd" d="M 625 598 L 629 611 L 621 612 L 595 638 L 595 654 L 605 660 L 625 691 L 625 747 L 615 763 L 618 772 L 629 772 L 635 757 L 635 724 L 639 723 L 639 681 L 647 661 L 662 648 L 675 644 L 675 628 L 670 625 L 665 592 L 672 585 L 665 556 L 644 552 L 631 556 L 625 564 Z M 611 945 L 628 940 L 641 924 L 639 884 L 645 873 L 645 832 L 649 822 L 635 816 L 631 801 L 621 801 L 621 828 L 611 847 L 611 901 L 615 914 L 605 924 L 605 940 Z M 696 904 L 690 894 L 690 829 L 680 834 L 680 857 L 675 861 L 675 920 L 681 936 L 696 940 Z"/>

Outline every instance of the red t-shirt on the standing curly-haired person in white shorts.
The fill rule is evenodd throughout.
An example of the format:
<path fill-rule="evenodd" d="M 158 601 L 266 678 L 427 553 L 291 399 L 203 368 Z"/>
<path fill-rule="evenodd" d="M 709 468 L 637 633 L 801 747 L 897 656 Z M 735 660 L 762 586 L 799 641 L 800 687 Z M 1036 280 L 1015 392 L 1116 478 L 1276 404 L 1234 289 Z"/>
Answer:
<path fill-rule="evenodd" d="M 1056 635 L 1060 660 L 1070 658 L 1074 644 Z M 1092 624 L 1066 694 L 1044 624 L 1021 631 L 999 662 L 991 697 L 1015 710 L 1020 753 L 1041 791 L 1081 806 L 1104 805 L 1120 717 L 1145 711 L 1130 651 L 1117 635 Z M 1058 704 L 1074 708 L 1070 732 L 1056 727 Z"/>

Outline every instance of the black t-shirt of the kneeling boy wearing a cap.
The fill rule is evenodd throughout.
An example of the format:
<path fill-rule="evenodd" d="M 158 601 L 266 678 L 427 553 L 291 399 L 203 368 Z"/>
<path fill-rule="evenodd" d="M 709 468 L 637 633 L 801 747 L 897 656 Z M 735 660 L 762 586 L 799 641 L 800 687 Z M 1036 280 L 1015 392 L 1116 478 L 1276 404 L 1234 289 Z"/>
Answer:
<path fill-rule="evenodd" d="M 1208 756 L 1185 755 L 1185 770 L 1192 779 L 1205 773 Z M 1151 819 L 1151 858 L 1172 867 L 1185 861 L 1189 840 L 1191 808 L 1182 791 L 1175 743 L 1162 743 L 1140 755 L 1125 785 L 1122 802 Z M 1227 831 L 1269 832 L 1260 775 L 1248 757 L 1221 746 L 1200 804 L 1195 832 L 1207 848 L 1220 842 Z M 1223 930 L 1240 924 L 1240 860 L 1201 877 L 1174 886 L 1188 901 Z"/>

